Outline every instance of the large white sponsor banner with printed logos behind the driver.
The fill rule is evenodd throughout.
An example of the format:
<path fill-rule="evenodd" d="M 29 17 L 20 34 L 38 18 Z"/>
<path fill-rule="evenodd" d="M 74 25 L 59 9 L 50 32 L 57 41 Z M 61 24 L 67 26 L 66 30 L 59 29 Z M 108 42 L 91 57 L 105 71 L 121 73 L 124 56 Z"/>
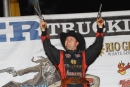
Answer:
<path fill-rule="evenodd" d="M 51 43 L 58 49 L 64 50 L 59 40 L 60 32 L 68 30 L 81 33 L 87 47 L 95 40 L 97 13 L 43 16 L 47 22 Z M 96 84 L 100 84 L 98 87 L 128 87 L 130 86 L 130 11 L 102 12 L 102 17 L 105 24 L 103 49 L 96 61 L 89 66 L 86 74 L 100 79 L 96 82 L 93 78 L 91 87 L 97 87 Z M 55 73 L 52 64 L 46 60 L 48 57 L 40 36 L 37 16 L 0 18 L 0 87 L 45 87 L 46 84 L 50 87 L 59 86 L 59 83 L 54 86 L 54 80 L 51 82 L 51 79 L 48 79 L 47 83 L 44 83 L 46 82 L 44 80 L 37 83 L 46 72 Z M 40 69 L 41 62 L 36 62 L 38 60 L 51 67 L 46 65 L 44 69 Z"/>

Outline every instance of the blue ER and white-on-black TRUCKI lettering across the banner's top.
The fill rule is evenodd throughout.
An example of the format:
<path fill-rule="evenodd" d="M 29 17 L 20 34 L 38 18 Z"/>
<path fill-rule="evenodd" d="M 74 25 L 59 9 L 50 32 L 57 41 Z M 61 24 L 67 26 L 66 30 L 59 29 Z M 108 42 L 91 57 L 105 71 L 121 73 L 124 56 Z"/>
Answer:
<path fill-rule="evenodd" d="M 78 17 L 77 17 L 78 18 Z M 67 32 L 68 30 L 77 30 L 84 37 L 94 37 L 97 31 L 97 23 L 94 21 L 95 18 L 63 18 L 63 19 L 53 19 L 47 20 L 47 29 L 50 34 L 51 39 L 59 39 L 60 32 Z M 115 35 L 129 35 L 130 34 L 130 20 L 129 16 L 116 16 L 109 17 L 113 20 L 105 20 L 105 36 L 115 36 Z M 6 19 L 6 18 L 5 18 Z M 22 19 L 22 17 L 21 17 Z M 91 19 L 91 20 L 90 20 Z M 13 20 L 8 19 L 6 22 L 1 21 L 0 23 L 0 42 L 14 42 L 14 41 L 26 41 L 26 40 L 39 40 L 40 31 L 39 22 L 37 20 L 30 21 L 17 21 L 17 18 Z M 61 21 L 62 20 L 62 21 Z M 3 31 L 8 31 L 3 33 Z M 29 36 L 23 34 L 29 33 Z M 12 37 L 13 36 L 13 37 Z"/>

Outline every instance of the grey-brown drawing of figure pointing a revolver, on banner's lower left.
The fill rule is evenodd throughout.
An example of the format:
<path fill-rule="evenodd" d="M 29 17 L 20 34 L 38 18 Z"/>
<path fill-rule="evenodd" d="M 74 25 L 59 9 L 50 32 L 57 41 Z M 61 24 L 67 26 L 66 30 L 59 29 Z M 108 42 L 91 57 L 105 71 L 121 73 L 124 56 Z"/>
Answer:
<path fill-rule="evenodd" d="M 26 83 L 24 82 L 17 83 L 15 81 L 10 81 L 2 87 L 16 87 L 14 85 L 19 85 L 19 84 L 22 84 L 22 86 L 20 87 L 48 87 L 48 85 L 54 84 L 55 82 L 59 81 L 60 76 L 58 75 L 58 72 L 56 72 L 56 68 L 54 67 L 54 65 L 51 63 L 51 61 L 49 61 L 49 58 L 45 58 L 43 56 L 38 56 L 38 57 L 40 58 L 38 60 L 34 60 L 34 57 L 31 59 L 33 63 L 37 64 L 36 66 L 27 67 L 25 69 L 19 69 L 19 73 L 23 73 L 22 75 L 29 74 L 35 70 L 35 72 L 37 73 L 34 77 L 32 77 L 33 80 L 32 78 L 30 78 L 26 81 Z M 36 67 L 41 67 L 41 68 L 36 69 Z M 1 73 L 8 72 L 9 74 L 12 74 L 14 77 L 22 76 L 13 67 L 0 69 L 0 71 Z"/>

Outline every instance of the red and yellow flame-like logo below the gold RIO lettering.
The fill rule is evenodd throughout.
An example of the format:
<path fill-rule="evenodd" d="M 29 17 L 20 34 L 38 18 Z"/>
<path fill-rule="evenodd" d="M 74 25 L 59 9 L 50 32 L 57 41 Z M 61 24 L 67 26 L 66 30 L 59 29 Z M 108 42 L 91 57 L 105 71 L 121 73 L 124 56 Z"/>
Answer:
<path fill-rule="evenodd" d="M 127 65 L 125 65 L 125 63 L 119 63 L 118 64 L 118 73 L 120 73 L 121 75 L 124 75 L 126 73 L 126 70 L 130 68 L 130 63 L 128 63 Z"/>

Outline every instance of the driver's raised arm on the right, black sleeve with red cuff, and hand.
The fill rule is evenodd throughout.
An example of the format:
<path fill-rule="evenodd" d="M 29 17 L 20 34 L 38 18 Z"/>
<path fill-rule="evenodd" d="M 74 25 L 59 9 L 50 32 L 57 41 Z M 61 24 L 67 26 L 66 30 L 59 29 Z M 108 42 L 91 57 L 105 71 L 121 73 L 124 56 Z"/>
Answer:
<path fill-rule="evenodd" d="M 90 45 L 85 51 L 86 51 L 86 63 L 87 65 L 91 65 L 96 58 L 99 56 L 102 47 L 103 47 L 103 27 L 104 27 L 104 20 L 102 18 L 99 18 L 96 20 L 97 22 L 97 33 L 96 33 L 96 39 L 95 42 Z"/>

